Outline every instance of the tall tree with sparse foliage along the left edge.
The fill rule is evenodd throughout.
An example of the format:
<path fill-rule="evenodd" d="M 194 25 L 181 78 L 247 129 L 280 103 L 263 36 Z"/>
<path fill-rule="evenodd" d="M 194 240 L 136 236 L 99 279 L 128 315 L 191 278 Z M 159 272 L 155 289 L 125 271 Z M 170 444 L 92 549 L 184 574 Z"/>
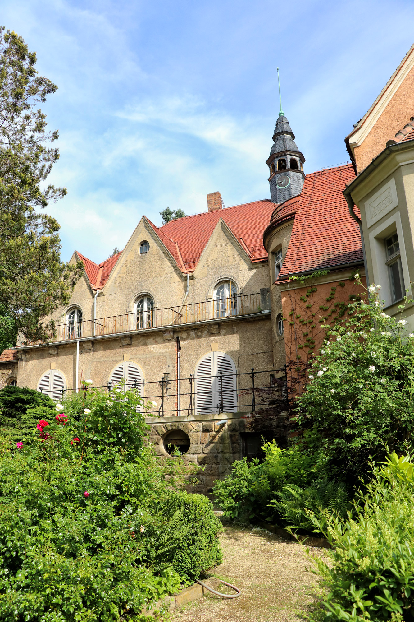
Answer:
<path fill-rule="evenodd" d="M 22 37 L 0 28 L 0 304 L 27 341 L 48 338 L 47 315 L 70 300 L 81 263 L 60 261 L 57 221 L 39 208 L 67 193 L 44 186 L 58 149 L 37 109 L 57 86 L 35 70 Z"/>

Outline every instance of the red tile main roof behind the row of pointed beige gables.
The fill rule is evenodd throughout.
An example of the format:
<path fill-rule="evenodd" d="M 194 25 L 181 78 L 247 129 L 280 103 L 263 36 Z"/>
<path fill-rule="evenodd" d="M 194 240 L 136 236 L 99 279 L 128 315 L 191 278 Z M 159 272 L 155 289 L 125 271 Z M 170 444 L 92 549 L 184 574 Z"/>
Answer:
<path fill-rule="evenodd" d="M 223 218 L 252 262 L 266 260 L 267 251 L 263 246 L 262 234 L 274 208 L 275 203 L 264 199 L 224 210 L 185 216 L 172 220 L 162 227 L 155 226 L 148 219 L 147 221 L 172 254 L 178 268 L 182 272 L 193 272 L 219 218 Z M 122 251 L 100 264 L 96 264 L 78 251 L 76 254 L 83 261 L 92 289 L 102 289 Z"/>

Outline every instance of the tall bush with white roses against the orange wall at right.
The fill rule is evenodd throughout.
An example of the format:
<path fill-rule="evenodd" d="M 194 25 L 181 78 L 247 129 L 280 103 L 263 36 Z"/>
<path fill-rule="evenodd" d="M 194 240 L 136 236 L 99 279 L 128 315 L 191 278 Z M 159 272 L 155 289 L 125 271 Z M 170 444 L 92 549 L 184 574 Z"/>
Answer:
<path fill-rule="evenodd" d="M 379 289 L 370 286 L 344 325 L 329 330 L 298 398 L 305 447 L 323 455 L 329 476 L 354 484 L 370 456 L 401 449 L 414 431 L 414 334 L 382 311 Z"/>

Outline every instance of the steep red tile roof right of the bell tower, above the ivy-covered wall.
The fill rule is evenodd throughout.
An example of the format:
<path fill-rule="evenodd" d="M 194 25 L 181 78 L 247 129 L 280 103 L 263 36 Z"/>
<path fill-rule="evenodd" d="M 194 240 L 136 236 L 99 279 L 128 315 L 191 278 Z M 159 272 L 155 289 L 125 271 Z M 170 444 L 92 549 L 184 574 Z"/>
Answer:
<path fill-rule="evenodd" d="M 275 209 L 270 225 L 295 218 L 278 280 L 290 274 L 363 263 L 359 227 L 349 215 L 343 195 L 354 177 L 351 164 L 306 175 L 301 195 Z"/>

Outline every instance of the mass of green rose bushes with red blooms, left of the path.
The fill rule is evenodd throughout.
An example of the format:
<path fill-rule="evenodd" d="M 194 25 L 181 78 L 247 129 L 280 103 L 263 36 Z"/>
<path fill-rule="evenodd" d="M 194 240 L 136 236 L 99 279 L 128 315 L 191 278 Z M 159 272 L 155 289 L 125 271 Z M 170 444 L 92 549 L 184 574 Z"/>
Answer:
<path fill-rule="evenodd" d="M 173 492 L 185 468 L 145 446 L 137 392 L 92 394 L 78 420 L 43 417 L 32 444 L 0 439 L 2 620 L 130 620 L 219 559 L 218 544 L 185 557 L 190 534 L 208 542 L 219 526 Z"/>

